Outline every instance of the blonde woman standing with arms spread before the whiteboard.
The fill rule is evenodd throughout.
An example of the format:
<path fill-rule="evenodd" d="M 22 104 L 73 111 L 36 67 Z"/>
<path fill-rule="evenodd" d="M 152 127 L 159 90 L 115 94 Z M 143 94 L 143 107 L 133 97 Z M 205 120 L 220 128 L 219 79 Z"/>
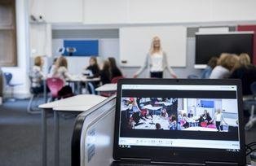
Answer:
<path fill-rule="evenodd" d="M 170 72 L 170 76 L 177 78 L 174 71 L 170 68 L 167 61 L 166 53 L 161 48 L 161 41 L 159 37 L 153 37 L 151 48 L 146 56 L 143 66 L 135 73 L 134 77 L 138 77 L 145 68 L 150 71 L 150 77 L 162 78 L 163 72 L 167 68 Z"/>

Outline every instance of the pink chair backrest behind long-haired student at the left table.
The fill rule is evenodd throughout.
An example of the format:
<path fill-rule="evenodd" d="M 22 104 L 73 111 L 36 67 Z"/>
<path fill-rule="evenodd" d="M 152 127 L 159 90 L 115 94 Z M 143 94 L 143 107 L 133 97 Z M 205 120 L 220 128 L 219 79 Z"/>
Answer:
<path fill-rule="evenodd" d="M 51 96 L 53 98 L 58 97 L 58 92 L 64 86 L 64 81 L 58 77 L 51 77 L 47 78 L 46 85 L 48 86 L 49 90 L 51 91 Z"/>

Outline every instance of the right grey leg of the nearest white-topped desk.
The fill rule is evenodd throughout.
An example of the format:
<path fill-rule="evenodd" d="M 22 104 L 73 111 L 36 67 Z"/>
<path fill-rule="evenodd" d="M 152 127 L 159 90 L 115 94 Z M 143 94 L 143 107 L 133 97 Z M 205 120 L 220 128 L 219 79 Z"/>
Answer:
<path fill-rule="evenodd" d="M 55 133 L 55 166 L 59 166 L 59 114 L 58 111 L 54 111 L 54 133 Z"/>

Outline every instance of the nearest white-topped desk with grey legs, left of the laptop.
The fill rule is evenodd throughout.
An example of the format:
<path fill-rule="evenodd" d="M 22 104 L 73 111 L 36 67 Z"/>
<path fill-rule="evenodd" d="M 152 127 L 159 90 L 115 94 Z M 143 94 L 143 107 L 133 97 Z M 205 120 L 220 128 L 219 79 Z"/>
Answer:
<path fill-rule="evenodd" d="M 47 165 L 46 113 L 54 111 L 55 166 L 59 165 L 59 115 L 58 111 L 87 111 L 106 98 L 94 94 L 81 94 L 40 105 L 42 108 L 42 166 Z M 60 110 L 58 108 L 60 107 Z M 79 109 L 77 109 L 79 107 Z M 64 109 L 65 108 L 65 109 Z M 62 110 L 61 110 L 62 109 Z"/>

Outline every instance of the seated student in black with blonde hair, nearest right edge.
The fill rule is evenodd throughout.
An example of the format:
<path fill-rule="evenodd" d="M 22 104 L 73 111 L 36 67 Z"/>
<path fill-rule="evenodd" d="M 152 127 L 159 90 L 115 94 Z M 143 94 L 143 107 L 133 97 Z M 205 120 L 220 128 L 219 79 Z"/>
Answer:
<path fill-rule="evenodd" d="M 249 55 L 241 54 L 236 68 L 229 78 L 238 78 L 242 81 L 243 95 L 252 94 L 250 85 L 256 81 L 256 67 L 250 63 Z"/>

